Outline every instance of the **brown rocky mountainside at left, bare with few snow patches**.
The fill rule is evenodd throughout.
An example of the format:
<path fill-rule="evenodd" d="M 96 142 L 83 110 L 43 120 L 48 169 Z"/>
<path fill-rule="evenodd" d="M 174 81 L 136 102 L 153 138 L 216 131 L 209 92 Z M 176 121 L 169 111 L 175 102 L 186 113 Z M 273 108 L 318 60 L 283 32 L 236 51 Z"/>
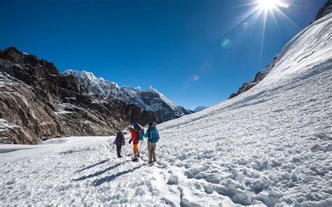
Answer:
<path fill-rule="evenodd" d="M 36 144 L 57 136 L 108 136 L 155 113 L 86 94 L 74 76 L 15 48 L 0 50 L 0 143 Z"/>

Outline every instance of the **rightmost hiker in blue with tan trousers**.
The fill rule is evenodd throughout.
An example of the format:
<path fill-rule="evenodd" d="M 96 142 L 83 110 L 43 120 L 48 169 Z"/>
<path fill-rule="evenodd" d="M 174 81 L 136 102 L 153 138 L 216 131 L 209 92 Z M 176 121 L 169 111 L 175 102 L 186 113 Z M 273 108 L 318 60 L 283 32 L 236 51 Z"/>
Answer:
<path fill-rule="evenodd" d="M 148 124 L 148 130 L 146 130 L 144 137 L 148 138 L 148 163 L 155 162 L 155 147 L 159 140 L 159 133 L 155 124 L 152 122 Z"/>

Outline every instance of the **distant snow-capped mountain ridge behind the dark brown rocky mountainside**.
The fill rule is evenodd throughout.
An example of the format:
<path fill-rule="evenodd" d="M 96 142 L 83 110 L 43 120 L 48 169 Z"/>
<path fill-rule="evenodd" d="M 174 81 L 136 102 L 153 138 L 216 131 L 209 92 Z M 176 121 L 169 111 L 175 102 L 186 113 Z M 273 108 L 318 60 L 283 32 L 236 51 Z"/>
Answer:
<path fill-rule="evenodd" d="M 66 70 L 64 75 L 73 75 L 78 79 L 81 87 L 90 94 L 97 94 L 99 97 L 115 98 L 127 103 L 134 103 L 141 108 L 157 113 L 163 121 L 172 120 L 193 113 L 193 111 L 177 106 L 167 99 L 162 93 L 153 87 L 146 91 L 140 91 L 133 87 L 118 87 L 118 84 L 111 83 L 104 78 L 96 78 L 93 73 L 87 71 Z"/>

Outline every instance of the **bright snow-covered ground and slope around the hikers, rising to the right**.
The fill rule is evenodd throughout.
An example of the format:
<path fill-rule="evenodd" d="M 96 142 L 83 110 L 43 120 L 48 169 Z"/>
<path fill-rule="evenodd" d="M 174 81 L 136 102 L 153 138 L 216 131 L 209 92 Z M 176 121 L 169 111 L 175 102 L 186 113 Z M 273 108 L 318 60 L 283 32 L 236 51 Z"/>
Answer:
<path fill-rule="evenodd" d="M 137 163 L 127 143 L 121 159 L 102 140 L 11 162 L 22 151 L 0 145 L 1 204 L 332 206 L 331 32 L 327 15 L 251 90 L 159 124 L 153 166 L 146 143 Z"/>

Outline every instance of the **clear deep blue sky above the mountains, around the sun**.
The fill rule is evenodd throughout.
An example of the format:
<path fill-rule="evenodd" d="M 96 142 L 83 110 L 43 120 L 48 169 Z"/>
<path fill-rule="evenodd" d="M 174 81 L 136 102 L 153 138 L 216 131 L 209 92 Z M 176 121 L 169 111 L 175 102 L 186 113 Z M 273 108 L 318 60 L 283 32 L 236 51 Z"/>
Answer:
<path fill-rule="evenodd" d="M 213 106 L 254 78 L 325 3 L 284 0 L 289 8 L 279 9 L 293 23 L 268 13 L 261 47 L 263 15 L 241 19 L 254 1 L 3 0 L 0 48 L 15 46 L 61 72 L 152 85 L 187 108 Z"/>

